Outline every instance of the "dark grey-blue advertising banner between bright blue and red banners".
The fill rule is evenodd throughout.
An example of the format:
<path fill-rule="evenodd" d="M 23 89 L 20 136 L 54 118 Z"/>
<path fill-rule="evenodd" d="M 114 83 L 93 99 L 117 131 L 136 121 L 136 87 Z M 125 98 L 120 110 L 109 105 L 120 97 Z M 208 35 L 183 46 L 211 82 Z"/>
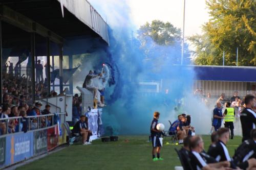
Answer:
<path fill-rule="evenodd" d="M 47 130 L 34 132 L 34 155 L 47 152 Z"/>

